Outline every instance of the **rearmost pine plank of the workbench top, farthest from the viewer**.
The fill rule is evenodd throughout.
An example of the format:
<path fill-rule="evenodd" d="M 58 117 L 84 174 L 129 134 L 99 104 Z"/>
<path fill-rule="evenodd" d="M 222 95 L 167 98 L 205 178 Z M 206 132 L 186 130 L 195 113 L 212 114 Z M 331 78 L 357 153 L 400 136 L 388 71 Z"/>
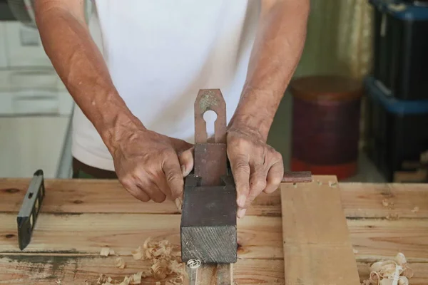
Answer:
<path fill-rule="evenodd" d="M 331 179 L 314 176 L 314 181 L 322 184 Z M 27 179 L 0 179 L 0 212 L 19 212 L 28 185 Z M 291 184 L 282 187 L 294 188 Z M 428 184 L 340 183 L 340 190 L 347 217 L 398 214 L 399 217 L 428 218 Z M 116 180 L 46 180 L 46 194 L 43 212 L 178 214 L 173 202 L 142 203 L 128 195 Z M 384 207 L 384 199 L 391 205 Z M 268 217 L 280 217 L 280 214 L 280 191 L 260 195 L 246 213 Z"/>

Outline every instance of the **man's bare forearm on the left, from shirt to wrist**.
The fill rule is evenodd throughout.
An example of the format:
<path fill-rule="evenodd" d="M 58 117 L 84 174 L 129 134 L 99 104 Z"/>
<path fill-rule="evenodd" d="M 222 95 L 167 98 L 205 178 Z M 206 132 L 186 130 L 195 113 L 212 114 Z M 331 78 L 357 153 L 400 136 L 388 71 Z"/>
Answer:
<path fill-rule="evenodd" d="M 119 125 L 139 121 L 113 86 L 80 11 L 51 3 L 54 1 L 36 1 L 36 21 L 45 51 L 76 104 L 111 147 L 120 138 Z"/>

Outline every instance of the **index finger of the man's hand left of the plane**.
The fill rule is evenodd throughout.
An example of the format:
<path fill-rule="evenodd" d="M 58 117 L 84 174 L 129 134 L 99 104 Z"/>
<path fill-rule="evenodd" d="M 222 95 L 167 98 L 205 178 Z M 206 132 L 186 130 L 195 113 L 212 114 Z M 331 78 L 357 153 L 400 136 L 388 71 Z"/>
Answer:
<path fill-rule="evenodd" d="M 180 162 L 178 162 L 178 157 L 175 153 L 174 155 L 168 155 L 163 162 L 162 170 L 165 173 L 165 179 L 171 190 L 172 198 L 180 197 L 183 192 L 184 180 Z"/>

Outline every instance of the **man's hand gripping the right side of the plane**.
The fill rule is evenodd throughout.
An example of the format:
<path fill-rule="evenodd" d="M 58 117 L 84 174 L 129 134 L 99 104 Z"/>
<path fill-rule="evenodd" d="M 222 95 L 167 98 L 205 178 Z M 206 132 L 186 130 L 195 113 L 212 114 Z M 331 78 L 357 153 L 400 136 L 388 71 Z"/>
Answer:
<path fill-rule="evenodd" d="M 272 193 L 284 175 L 282 155 L 267 145 L 257 130 L 228 130 L 228 157 L 237 191 L 238 217 L 261 192 Z"/>

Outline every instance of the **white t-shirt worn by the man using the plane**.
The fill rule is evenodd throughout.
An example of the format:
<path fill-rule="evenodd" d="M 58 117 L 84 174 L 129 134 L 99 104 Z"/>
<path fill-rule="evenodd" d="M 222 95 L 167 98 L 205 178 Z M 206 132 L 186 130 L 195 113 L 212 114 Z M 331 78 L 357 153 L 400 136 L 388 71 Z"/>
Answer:
<path fill-rule="evenodd" d="M 259 1 L 95 0 L 95 6 L 91 34 L 118 93 L 146 128 L 193 143 L 193 103 L 204 88 L 220 88 L 229 122 L 247 75 Z M 86 165 L 114 170 L 77 106 L 72 153 Z"/>

